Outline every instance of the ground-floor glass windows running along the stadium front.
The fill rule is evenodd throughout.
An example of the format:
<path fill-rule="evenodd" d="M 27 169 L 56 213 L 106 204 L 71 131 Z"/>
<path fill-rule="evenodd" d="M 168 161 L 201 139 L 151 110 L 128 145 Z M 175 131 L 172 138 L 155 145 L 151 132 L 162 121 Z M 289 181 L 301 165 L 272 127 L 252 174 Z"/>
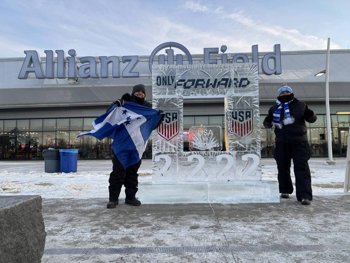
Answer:
<path fill-rule="evenodd" d="M 262 125 L 266 115 L 260 115 L 261 157 L 273 157 L 275 148 L 274 129 Z M 96 116 L 97 117 L 97 116 Z M 345 156 L 349 138 L 350 115 L 331 115 L 331 138 L 334 156 Z M 83 131 L 93 129 L 95 118 L 18 119 L 0 120 L 1 160 L 41 160 L 42 151 L 54 149 L 78 149 L 79 159 L 110 159 L 112 139 L 102 141 L 92 136 L 75 139 Z M 188 130 L 191 126 L 220 126 L 224 138 L 223 115 L 184 116 L 184 150 L 188 151 Z M 315 123 L 306 123 L 311 156 L 327 156 L 327 128 L 325 115 L 318 115 Z M 224 140 L 222 141 L 225 150 Z M 143 158 L 152 157 L 152 138 Z"/>

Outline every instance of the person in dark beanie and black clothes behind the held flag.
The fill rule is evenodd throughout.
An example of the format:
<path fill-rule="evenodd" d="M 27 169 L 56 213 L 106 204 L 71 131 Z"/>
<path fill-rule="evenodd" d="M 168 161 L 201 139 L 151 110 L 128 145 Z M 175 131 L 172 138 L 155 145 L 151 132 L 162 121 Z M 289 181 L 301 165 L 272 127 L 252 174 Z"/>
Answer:
<path fill-rule="evenodd" d="M 116 100 L 110 104 L 106 112 L 108 112 L 114 104 L 118 104 L 119 107 L 123 106 L 124 102 L 134 102 L 142 106 L 151 108 L 151 104 L 146 101 L 146 89 L 145 85 L 138 84 L 133 87 L 132 93 L 124 94 L 120 100 Z M 162 110 L 159 110 L 159 115 L 162 115 L 162 118 L 157 123 L 156 128 L 163 122 L 165 113 Z M 121 191 L 121 187 L 124 184 L 125 187 L 125 203 L 131 205 L 140 205 L 141 202 L 135 197 L 138 191 L 138 173 L 137 171 L 140 168 L 141 160 L 138 163 L 133 164 L 132 166 L 124 169 L 123 164 L 120 163 L 117 156 L 113 153 L 112 156 L 113 171 L 110 174 L 109 178 L 109 202 L 107 203 L 107 208 L 114 208 L 118 204 L 118 198 Z"/>

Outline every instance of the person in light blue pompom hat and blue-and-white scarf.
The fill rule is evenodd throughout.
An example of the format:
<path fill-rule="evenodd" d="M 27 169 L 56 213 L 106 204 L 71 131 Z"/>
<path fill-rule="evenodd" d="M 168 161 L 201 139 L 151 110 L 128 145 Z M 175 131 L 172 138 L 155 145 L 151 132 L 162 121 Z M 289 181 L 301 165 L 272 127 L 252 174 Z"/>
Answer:
<path fill-rule="evenodd" d="M 266 128 L 275 127 L 274 158 L 281 197 L 289 198 L 294 190 L 290 178 L 290 164 L 293 159 L 296 198 L 306 205 L 311 203 L 312 189 L 308 164 L 311 149 L 305 121 L 314 123 L 316 120 L 316 114 L 304 102 L 294 97 L 292 88 L 286 83 L 282 83 L 279 88 L 276 104 L 268 110 L 264 120 Z"/>

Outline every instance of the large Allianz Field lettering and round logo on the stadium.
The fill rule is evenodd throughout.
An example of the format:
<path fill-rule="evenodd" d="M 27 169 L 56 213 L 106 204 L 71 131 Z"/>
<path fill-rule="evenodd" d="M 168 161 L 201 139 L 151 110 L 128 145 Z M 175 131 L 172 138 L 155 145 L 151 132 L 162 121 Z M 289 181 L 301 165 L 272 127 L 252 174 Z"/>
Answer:
<path fill-rule="evenodd" d="M 166 42 L 162 43 L 158 47 L 156 47 L 151 56 L 149 56 L 149 70 L 152 72 L 152 64 L 156 54 L 164 48 L 167 54 L 167 62 L 168 65 L 174 64 L 174 50 L 172 48 L 180 49 L 183 53 L 186 54 L 188 63 L 192 64 L 192 56 L 188 49 L 183 45 L 176 42 Z M 220 51 L 221 54 L 221 63 L 228 63 L 228 55 L 224 54 L 227 50 L 226 46 L 221 46 Z M 40 55 L 36 50 L 25 50 L 26 58 L 23 61 L 23 65 L 21 67 L 20 73 L 18 75 L 19 79 L 27 79 L 29 73 L 34 73 L 37 79 L 65 79 L 66 78 L 66 66 L 68 67 L 68 79 L 76 79 L 77 77 L 87 79 L 87 78 L 108 78 L 120 77 L 120 62 L 127 63 L 123 72 L 121 73 L 121 77 L 139 77 L 139 72 L 133 71 L 137 63 L 139 62 L 139 56 L 123 56 L 121 57 L 121 61 L 118 56 L 99 56 L 95 58 L 93 56 L 84 56 L 80 58 L 81 65 L 77 65 L 77 52 L 74 49 L 70 49 L 68 51 L 68 55 L 66 56 L 64 50 L 45 50 L 46 60 L 45 60 L 45 70 L 42 67 L 42 62 Z M 55 53 L 57 54 L 57 61 L 55 61 Z M 204 48 L 204 64 L 217 64 L 218 60 L 215 58 L 210 58 L 212 54 L 219 54 L 219 48 Z M 268 61 L 272 59 L 274 68 L 271 69 L 268 66 Z M 68 63 L 66 61 L 68 60 Z M 259 65 L 259 53 L 258 53 L 258 45 L 252 46 L 252 59 L 249 60 L 248 56 L 245 54 L 236 54 L 232 57 L 231 63 L 239 63 L 239 62 L 257 62 L 258 67 L 261 67 L 262 72 L 265 75 L 279 75 L 282 73 L 281 70 L 281 51 L 280 45 L 273 46 L 273 53 L 267 53 L 261 59 L 261 65 Z M 100 72 L 97 73 L 97 63 L 100 63 Z M 56 64 L 56 66 L 55 66 Z M 165 64 L 165 55 L 158 55 L 158 64 Z M 183 64 L 183 56 L 182 54 L 176 54 L 176 65 Z M 112 67 L 112 76 L 109 75 L 109 67 Z M 55 75 L 56 68 L 56 75 Z"/>

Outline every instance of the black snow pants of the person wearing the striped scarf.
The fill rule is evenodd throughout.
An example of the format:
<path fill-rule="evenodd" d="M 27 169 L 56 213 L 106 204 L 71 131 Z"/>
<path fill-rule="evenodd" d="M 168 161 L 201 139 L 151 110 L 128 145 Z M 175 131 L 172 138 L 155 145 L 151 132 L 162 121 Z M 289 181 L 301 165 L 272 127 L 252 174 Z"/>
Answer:
<path fill-rule="evenodd" d="M 296 199 L 312 200 L 311 175 L 308 160 L 311 149 L 307 141 L 276 142 L 274 158 L 278 169 L 278 184 L 280 193 L 293 193 L 292 179 L 290 178 L 290 164 L 293 159 L 295 175 Z"/>

